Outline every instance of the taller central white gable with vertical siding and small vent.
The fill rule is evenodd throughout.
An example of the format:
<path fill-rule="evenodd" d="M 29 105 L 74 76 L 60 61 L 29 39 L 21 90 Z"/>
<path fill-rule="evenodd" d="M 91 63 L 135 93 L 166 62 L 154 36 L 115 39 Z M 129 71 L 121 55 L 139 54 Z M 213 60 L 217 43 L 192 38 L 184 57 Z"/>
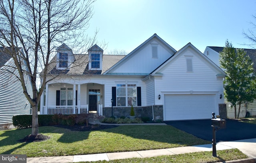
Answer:
<path fill-rule="evenodd" d="M 110 70 L 106 71 L 106 74 L 148 75 L 175 52 L 175 49 L 154 34 Z"/>

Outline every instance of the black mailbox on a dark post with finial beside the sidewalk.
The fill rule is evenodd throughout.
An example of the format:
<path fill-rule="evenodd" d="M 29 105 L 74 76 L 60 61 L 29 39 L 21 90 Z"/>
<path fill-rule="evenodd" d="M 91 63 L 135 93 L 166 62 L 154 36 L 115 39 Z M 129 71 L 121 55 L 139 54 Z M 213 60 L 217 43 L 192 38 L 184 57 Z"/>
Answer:
<path fill-rule="evenodd" d="M 215 113 L 212 113 L 212 156 L 217 157 L 216 153 L 216 131 L 226 128 L 226 120 L 215 118 Z"/>

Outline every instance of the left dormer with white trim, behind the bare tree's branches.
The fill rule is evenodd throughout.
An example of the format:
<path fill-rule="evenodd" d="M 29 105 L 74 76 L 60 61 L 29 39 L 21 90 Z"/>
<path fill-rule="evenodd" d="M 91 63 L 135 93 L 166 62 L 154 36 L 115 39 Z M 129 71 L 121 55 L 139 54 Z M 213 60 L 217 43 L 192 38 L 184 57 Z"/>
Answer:
<path fill-rule="evenodd" d="M 56 69 L 66 70 L 70 69 L 70 65 L 75 61 L 72 49 L 70 49 L 66 44 L 60 45 L 56 49 L 57 51 L 57 64 Z"/>

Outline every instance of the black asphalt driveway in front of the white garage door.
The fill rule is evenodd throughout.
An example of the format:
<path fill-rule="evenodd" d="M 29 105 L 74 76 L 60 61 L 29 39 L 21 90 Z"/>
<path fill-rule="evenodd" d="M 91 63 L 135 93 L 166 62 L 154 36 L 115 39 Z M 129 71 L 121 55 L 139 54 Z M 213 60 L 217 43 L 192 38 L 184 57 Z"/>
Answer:
<path fill-rule="evenodd" d="M 201 139 L 212 141 L 211 120 L 165 121 L 165 123 Z M 256 138 L 256 125 L 238 120 L 226 120 L 226 129 L 216 132 L 216 142 L 252 138 Z"/>

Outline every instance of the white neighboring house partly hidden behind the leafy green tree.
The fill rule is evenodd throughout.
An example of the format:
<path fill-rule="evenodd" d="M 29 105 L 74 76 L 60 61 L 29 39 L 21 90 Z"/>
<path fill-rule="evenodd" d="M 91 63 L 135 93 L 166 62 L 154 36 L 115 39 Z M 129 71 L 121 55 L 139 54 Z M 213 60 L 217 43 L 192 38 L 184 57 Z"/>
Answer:
<path fill-rule="evenodd" d="M 204 55 L 212 60 L 216 65 L 220 67 L 220 52 L 223 50 L 224 47 L 215 47 L 215 46 L 207 46 L 204 50 Z M 256 71 L 256 49 L 244 49 L 246 51 L 246 55 L 249 55 L 252 61 L 254 62 L 254 71 Z M 227 116 L 228 118 L 234 118 L 234 107 L 229 103 L 226 102 L 227 108 Z M 256 101 L 248 104 L 241 105 L 240 110 L 240 117 L 245 117 L 246 112 L 249 112 L 251 116 L 256 116 Z"/>

